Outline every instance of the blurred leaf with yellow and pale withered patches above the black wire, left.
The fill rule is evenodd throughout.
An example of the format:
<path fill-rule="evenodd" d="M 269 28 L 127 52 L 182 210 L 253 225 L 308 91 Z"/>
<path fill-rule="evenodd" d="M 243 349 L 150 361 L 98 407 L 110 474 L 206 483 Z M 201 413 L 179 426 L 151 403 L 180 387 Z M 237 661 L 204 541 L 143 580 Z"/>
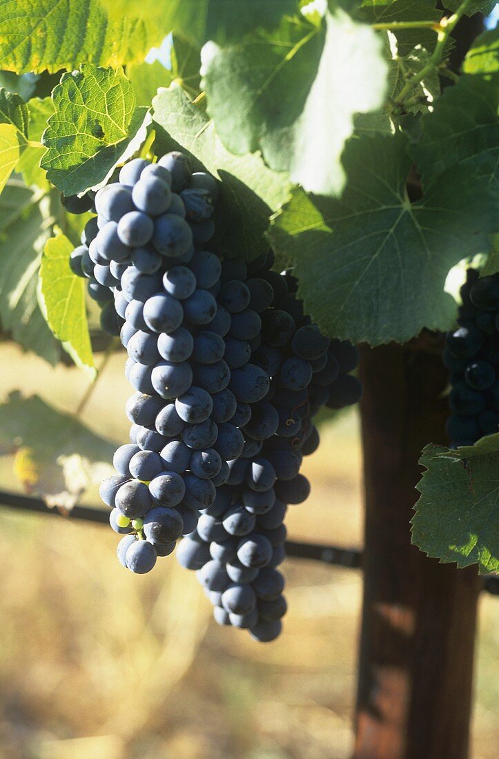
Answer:
<path fill-rule="evenodd" d="M 85 490 L 112 474 L 115 445 L 38 395 L 11 392 L 0 405 L 0 454 L 15 454 L 25 490 L 71 509 Z"/>

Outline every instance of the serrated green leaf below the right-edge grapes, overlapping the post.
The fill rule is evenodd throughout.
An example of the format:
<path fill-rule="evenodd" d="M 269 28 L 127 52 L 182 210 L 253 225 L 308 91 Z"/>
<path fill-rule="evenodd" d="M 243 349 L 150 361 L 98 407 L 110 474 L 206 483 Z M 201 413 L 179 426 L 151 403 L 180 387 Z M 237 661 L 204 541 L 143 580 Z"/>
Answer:
<path fill-rule="evenodd" d="M 426 446 L 412 543 L 441 562 L 499 572 L 499 434 L 450 451 Z"/>

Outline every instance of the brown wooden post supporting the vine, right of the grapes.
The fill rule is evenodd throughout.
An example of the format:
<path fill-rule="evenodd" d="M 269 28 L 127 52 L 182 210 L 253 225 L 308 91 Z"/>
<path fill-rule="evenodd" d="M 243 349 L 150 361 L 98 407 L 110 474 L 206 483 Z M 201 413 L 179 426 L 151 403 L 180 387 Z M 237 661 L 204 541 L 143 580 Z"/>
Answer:
<path fill-rule="evenodd" d="M 365 586 L 355 759 L 466 759 L 479 579 L 410 545 L 418 458 L 446 443 L 439 338 L 362 351 Z"/>

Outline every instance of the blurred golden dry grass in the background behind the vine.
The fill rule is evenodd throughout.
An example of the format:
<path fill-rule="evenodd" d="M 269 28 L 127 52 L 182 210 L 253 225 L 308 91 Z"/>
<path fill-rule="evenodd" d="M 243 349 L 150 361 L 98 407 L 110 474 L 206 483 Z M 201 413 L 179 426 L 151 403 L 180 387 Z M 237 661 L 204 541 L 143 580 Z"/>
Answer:
<path fill-rule="evenodd" d="M 17 386 L 71 411 L 84 392 L 74 370 L 8 347 L 2 358 L 2 394 Z M 127 431 L 121 364 L 85 417 L 117 440 Z M 10 466 L 0 460 L 4 485 Z M 313 493 L 290 509 L 289 534 L 360 544 L 355 415 L 324 430 L 306 471 Z M 287 562 L 285 633 L 261 646 L 216 627 L 175 561 L 137 578 L 115 561 L 115 543 L 103 528 L 2 512 L 2 759 L 349 757 L 358 572 Z M 482 599 L 480 620 L 472 756 L 495 759 L 499 600 Z"/>

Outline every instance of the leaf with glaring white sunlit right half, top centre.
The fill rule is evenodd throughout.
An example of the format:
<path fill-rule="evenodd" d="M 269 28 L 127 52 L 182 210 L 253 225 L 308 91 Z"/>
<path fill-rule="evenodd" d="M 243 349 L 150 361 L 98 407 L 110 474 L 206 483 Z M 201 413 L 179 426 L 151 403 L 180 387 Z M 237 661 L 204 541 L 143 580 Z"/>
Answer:
<path fill-rule="evenodd" d="M 354 114 L 384 102 L 381 37 L 338 9 L 326 14 L 325 37 L 303 17 L 286 18 L 275 33 L 238 46 L 208 43 L 201 61 L 208 111 L 232 153 L 260 149 L 306 191 L 340 194 Z"/>

